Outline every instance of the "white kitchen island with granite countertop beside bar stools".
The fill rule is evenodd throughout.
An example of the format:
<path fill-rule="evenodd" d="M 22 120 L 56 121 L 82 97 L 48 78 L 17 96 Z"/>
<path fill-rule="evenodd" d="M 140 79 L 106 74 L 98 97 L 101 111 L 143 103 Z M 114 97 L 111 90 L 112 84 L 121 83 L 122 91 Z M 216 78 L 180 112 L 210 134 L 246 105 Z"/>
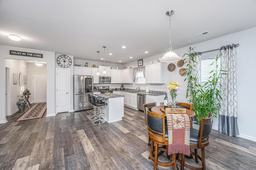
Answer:
<path fill-rule="evenodd" d="M 108 105 L 102 106 L 101 112 L 105 113 L 102 118 L 108 123 L 122 120 L 124 117 L 124 96 L 119 94 L 95 94 L 100 98 L 104 98 Z"/>

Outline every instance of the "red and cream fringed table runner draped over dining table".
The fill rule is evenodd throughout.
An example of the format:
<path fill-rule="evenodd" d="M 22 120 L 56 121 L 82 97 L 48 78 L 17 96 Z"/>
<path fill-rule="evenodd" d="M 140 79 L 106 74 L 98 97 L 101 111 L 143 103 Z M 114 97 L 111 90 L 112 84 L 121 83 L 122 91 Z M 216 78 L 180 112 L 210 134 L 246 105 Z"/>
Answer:
<path fill-rule="evenodd" d="M 166 113 L 168 127 L 168 155 L 190 156 L 190 120 L 187 114 Z"/>

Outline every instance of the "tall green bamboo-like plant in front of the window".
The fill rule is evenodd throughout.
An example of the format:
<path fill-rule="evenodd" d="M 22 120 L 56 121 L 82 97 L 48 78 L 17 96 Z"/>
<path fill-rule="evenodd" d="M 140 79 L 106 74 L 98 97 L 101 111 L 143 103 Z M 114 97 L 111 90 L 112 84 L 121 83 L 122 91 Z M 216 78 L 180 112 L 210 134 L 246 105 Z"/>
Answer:
<path fill-rule="evenodd" d="M 188 102 L 193 104 L 193 110 L 195 112 L 196 123 L 200 124 L 201 118 L 208 117 L 210 112 L 213 112 L 214 117 L 217 117 L 217 113 L 220 110 L 220 104 L 222 97 L 220 96 L 220 84 L 218 80 L 221 78 L 221 74 L 226 74 L 225 70 L 218 70 L 217 61 L 219 59 L 218 55 L 216 58 L 212 59 L 210 65 L 215 65 L 215 68 L 209 72 L 207 82 L 205 84 L 200 84 L 198 77 L 195 75 L 196 64 L 198 63 L 196 58 L 198 55 L 194 53 L 194 48 L 189 48 L 188 53 L 185 53 L 188 59 L 184 59 L 187 64 L 187 78 L 184 81 L 188 81 L 186 98 Z M 183 56 L 183 57 L 184 57 Z"/>

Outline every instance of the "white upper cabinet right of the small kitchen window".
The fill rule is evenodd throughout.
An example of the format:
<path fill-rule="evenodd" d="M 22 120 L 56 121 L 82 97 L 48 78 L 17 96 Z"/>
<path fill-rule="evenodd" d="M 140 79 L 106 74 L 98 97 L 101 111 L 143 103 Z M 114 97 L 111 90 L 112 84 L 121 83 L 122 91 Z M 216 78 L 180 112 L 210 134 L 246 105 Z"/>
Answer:
<path fill-rule="evenodd" d="M 145 66 L 146 83 L 165 83 L 165 63 L 153 63 Z"/>

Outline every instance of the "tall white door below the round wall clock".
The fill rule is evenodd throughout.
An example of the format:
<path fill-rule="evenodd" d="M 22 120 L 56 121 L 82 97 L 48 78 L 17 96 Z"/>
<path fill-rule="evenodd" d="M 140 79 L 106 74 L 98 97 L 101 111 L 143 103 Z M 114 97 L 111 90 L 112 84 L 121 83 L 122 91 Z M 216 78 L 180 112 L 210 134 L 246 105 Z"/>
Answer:
<path fill-rule="evenodd" d="M 69 70 L 57 69 L 57 113 L 69 109 Z"/>

